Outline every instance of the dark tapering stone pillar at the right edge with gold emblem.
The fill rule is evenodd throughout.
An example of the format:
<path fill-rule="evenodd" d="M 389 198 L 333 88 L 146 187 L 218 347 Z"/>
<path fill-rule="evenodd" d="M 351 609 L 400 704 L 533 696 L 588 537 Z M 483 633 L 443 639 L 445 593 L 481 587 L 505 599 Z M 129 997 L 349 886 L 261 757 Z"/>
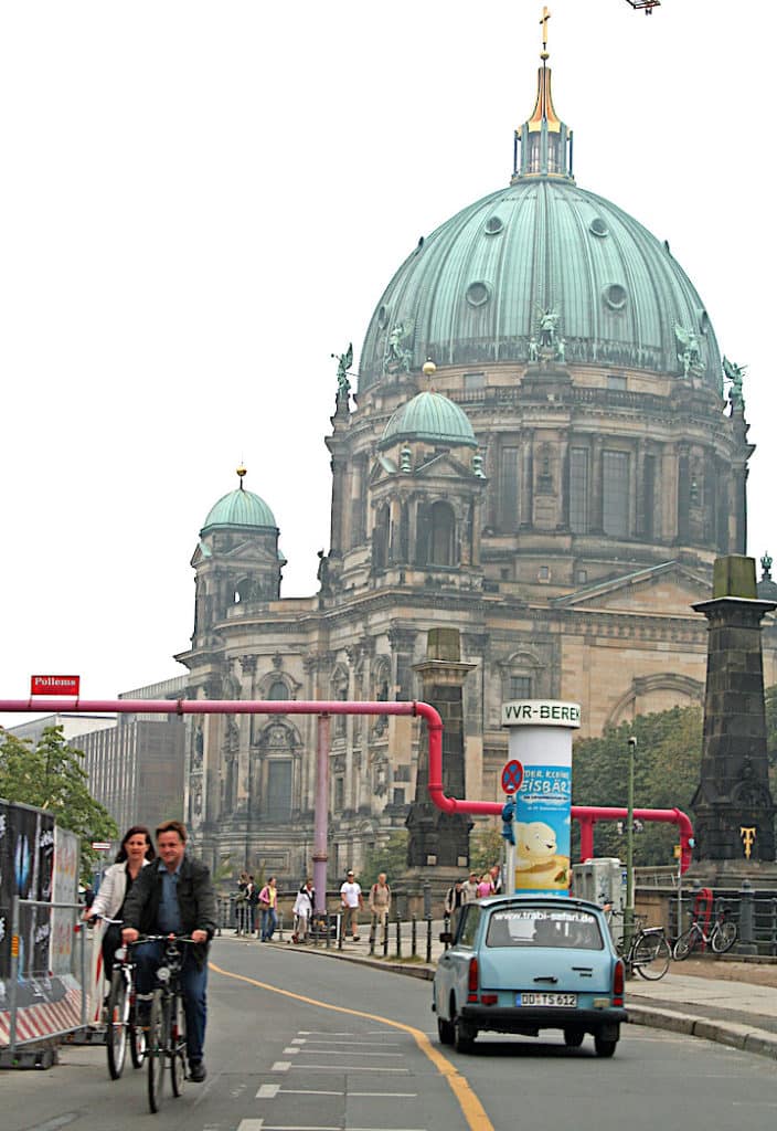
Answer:
<path fill-rule="evenodd" d="M 761 620 L 777 603 L 757 599 L 754 560 L 730 555 L 715 562 L 713 599 L 693 608 L 709 623 L 693 873 L 721 883 L 771 864 L 777 875 L 761 653 Z"/>

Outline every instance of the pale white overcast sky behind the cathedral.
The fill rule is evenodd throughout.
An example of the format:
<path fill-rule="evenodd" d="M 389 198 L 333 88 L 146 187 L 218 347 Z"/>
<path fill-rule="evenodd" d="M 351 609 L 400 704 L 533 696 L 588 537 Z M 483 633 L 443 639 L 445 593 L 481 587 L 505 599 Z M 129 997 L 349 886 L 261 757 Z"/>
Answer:
<path fill-rule="evenodd" d="M 578 183 L 670 241 L 749 366 L 749 552 L 775 553 L 771 6 L 549 7 Z M 541 8 L 0 3 L 0 698 L 182 673 L 189 562 L 241 460 L 283 595 L 315 590 L 330 355 L 352 340 L 356 368 L 418 238 L 508 182 Z"/>

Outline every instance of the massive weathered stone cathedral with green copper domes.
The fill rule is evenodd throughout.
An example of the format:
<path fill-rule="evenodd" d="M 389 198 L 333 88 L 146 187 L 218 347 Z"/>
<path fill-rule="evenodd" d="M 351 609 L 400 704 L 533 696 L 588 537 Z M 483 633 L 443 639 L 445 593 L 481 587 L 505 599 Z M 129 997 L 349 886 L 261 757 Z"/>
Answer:
<path fill-rule="evenodd" d="M 509 184 L 392 278 L 358 377 L 340 359 L 318 592 L 281 597 L 279 530 L 241 468 L 200 533 L 178 656 L 192 698 L 409 700 L 429 630 L 457 629 L 474 800 L 500 796 L 505 700 L 575 700 L 588 735 L 702 701 L 691 605 L 745 552 L 753 450 L 742 371 L 669 245 L 575 182 L 545 58 L 516 138 Z M 767 632 L 767 683 L 774 657 Z M 315 752 L 305 716 L 192 722 L 200 851 L 304 875 Z M 404 828 L 418 758 L 410 718 L 332 719 L 330 875 Z"/>

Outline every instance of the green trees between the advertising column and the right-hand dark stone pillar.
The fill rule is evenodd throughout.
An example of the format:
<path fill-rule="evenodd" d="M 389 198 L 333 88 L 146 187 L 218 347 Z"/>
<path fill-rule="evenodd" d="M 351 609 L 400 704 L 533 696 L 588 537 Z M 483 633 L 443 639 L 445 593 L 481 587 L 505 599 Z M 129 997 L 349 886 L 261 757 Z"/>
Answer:
<path fill-rule="evenodd" d="M 606 731 L 601 739 L 583 739 L 573 750 L 573 804 L 626 806 L 628 740 L 637 740 L 634 765 L 635 809 L 681 809 L 688 813 L 699 784 L 701 710 L 674 707 Z M 635 837 L 635 864 L 671 864 L 674 826 L 646 822 Z M 623 856 L 626 834 L 614 822 L 596 826 L 597 856 Z M 577 847 L 577 837 L 574 847 Z M 575 853 L 576 855 L 576 853 Z"/>

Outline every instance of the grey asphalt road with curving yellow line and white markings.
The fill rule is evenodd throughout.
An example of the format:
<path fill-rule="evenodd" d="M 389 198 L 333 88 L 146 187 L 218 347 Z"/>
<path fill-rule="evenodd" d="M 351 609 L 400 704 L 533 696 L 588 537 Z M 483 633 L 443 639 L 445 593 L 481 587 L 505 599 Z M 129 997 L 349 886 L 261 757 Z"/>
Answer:
<path fill-rule="evenodd" d="M 627 1026 L 612 1060 L 483 1035 L 437 1043 L 430 985 L 323 955 L 217 940 L 208 1080 L 150 1115 L 145 1071 L 112 1083 L 104 1050 L 70 1046 L 45 1072 L 0 1074 L 3 1131 L 762 1131 L 777 1120 L 774 1062 Z M 138 1124 L 140 1121 L 140 1124 Z"/>

